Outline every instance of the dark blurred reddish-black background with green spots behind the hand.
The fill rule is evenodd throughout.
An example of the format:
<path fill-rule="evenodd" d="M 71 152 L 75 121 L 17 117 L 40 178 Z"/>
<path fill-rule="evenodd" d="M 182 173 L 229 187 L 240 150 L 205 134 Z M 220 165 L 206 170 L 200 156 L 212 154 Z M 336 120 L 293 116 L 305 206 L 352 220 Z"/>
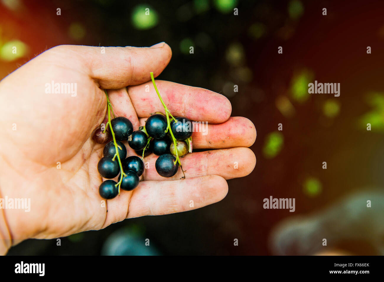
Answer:
<path fill-rule="evenodd" d="M 372 204 L 367 217 L 359 204 L 348 212 L 338 209 L 357 192 L 363 207 L 367 199 L 375 200 L 364 192 L 382 195 L 383 11 L 384 2 L 367 0 L 1 0 L 0 79 L 56 45 L 151 46 L 165 41 L 173 56 L 159 79 L 227 96 L 232 116 L 249 118 L 258 133 L 251 147 L 255 170 L 229 180 L 228 195 L 217 204 L 125 220 L 61 238 L 60 247 L 56 240 L 28 240 L 8 254 L 313 254 L 324 249 L 301 253 L 295 244 L 321 246 L 324 234 L 334 238 L 328 240 L 329 250 L 382 254 L 384 233 L 379 229 L 384 220 L 369 219 L 382 219 L 374 208 L 384 202 Z M 9 51 L 12 46 L 17 54 Z M 314 80 L 340 83 L 340 96 L 308 94 Z M 263 209 L 269 196 L 295 198 L 295 212 Z M 327 212 L 329 207 L 333 212 Z M 301 237 L 273 231 L 290 245 L 280 252 L 271 232 L 281 221 L 289 226 L 297 215 L 316 228 L 308 232 L 310 227 L 299 220 Z M 356 229 L 366 232 L 354 236 Z M 305 241 L 291 244 L 295 236 Z M 145 238 L 150 247 L 143 246 Z"/>

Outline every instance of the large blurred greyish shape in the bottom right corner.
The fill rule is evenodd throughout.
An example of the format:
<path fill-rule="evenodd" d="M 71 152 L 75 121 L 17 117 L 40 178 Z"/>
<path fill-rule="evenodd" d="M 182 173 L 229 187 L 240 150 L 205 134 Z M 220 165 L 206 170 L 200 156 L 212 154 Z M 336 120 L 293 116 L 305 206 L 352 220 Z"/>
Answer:
<path fill-rule="evenodd" d="M 270 236 L 272 253 L 314 255 L 328 250 L 331 242 L 331 249 L 384 255 L 384 192 L 367 190 L 371 192 L 353 193 L 312 215 L 281 221 Z"/>

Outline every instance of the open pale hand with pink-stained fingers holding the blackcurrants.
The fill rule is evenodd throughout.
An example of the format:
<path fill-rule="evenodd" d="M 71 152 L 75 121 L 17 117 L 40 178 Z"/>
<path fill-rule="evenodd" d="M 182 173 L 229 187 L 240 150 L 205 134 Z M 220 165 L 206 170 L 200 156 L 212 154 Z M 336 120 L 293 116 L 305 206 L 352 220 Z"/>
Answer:
<path fill-rule="evenodd" d="M 180 159 L 186 179 L 180 179 L 180 169 L 174 177 L 159 176 L 157 157 L 151 154 L 144 159 L 149 168 L 139 186 L 103 205 L 98 187 L 104 179 L 97 163 L 104 145 L 92 139 L 107 121 L 103 89 L 116 116 L 130 119 L 137 130 L 150 113 L 164 112 L 149 73 L 158 76 L 171 55 L 165 43 L 106 47 L 105 53 L 100 47 L 61 45 L 0 81 L 0 198 L 30 198 L 31 203 L 30 212 L 0 209 L 0 254 L 28 238 L 59 238 L 126 218 L 204 207 L 226 196 L 226 179 L 252 172 L 256 158 L 247 147 L 255 142 L 255 126 L 247 118 L 231 117 L 225 96 L 156 80 L 173 116 L 208 122 L 207 135 L 192 135 L 194 149 L 208 152 Z M 77 83 L 77 95 L 45 93 L 52 80 Z M 126 147 L 128 156 L 133 155 Z"/>

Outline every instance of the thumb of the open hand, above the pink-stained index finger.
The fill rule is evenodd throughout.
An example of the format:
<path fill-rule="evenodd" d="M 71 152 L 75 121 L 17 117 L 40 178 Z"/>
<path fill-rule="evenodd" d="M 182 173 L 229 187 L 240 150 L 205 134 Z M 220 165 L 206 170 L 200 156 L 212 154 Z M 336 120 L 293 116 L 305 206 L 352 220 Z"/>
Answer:
<path fill-rule="evenodd" d="M 66 46 L 67 47 L 67 46 Z M 172 51 L 165 42 L 151 47 L 69 46 L 80 56 L 85 71 L 104 89 L 119 89 L 151 80 L 160 75 Z"/>

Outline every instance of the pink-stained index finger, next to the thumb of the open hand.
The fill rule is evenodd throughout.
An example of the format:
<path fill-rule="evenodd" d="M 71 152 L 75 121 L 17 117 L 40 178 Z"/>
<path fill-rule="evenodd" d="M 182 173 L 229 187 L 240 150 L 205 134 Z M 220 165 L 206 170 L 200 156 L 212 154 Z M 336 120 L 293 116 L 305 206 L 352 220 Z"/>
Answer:
<path fill-rule="evenodd" d="M 155 82 L 161 98 L 174 117 L 184 116 L 193 121 L 223 123 L 231 116 L 231 103 L 221 94 L 170 81 L 156 80 Z M 152 81 L 129 86 L 127 90 L 139 118 L 147 117 L 157 111 L 164 113 L 164 107 Z"/>

